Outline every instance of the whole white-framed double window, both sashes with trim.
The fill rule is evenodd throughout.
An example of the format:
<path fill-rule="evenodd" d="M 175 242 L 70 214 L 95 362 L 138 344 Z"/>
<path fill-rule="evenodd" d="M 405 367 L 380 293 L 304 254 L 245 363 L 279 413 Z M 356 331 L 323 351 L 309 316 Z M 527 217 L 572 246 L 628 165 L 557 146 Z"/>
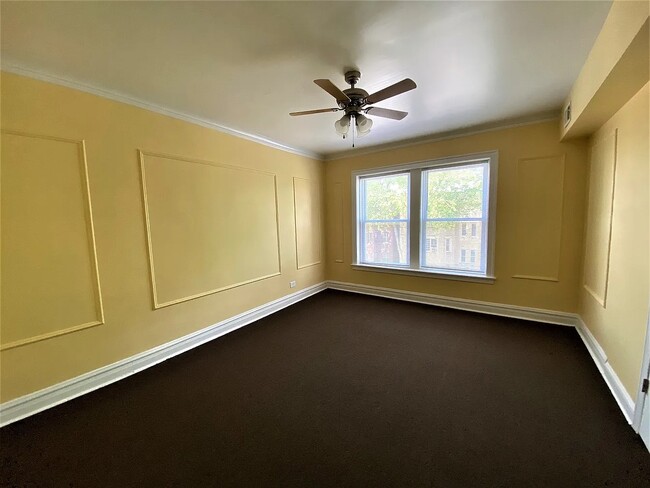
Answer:
<path fill-rule="evenodd" d="M 493 280 L 496 170 L 491 152 L 353 173 L 353 265 Z"/>

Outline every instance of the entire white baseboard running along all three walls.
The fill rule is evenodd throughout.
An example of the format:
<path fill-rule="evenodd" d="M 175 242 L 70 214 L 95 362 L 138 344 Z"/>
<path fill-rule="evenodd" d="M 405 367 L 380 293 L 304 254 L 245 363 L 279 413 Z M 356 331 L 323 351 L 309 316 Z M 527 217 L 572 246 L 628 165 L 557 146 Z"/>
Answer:
<path fill-rule="evenodd" d="M 478 300 L 449 298 L 426 293 L 396 290 L 392 288 L 380 288 L 340 281 L 325 281 L 313 285 L 304 290 L 268 302 L 264 305 L 236 315 L 235 317 L 231 317 L 192 334 L 168 342 L 167 344 L 150 349 L 149 351 L 145 351 L 43 390 L 16 398 L 15 400 L 5 402 L 0 405 L 0 426 L 8 425 L 68 400 L 72 400 L 78 396 L 90 393 L 102 386 L 110 385 L 122 378 L 126 378 L 151 366 L 155 366 L 166 359 L 172 358 L 178 354 L 200 346 L 205 342 L 237 330 L 240 327 L 262 319 L 267 315 L 282 310 L 283 308 L 293 305 L 328 288 L 394 300 L 403 300 L 470 312 L 485 313 L 489 315 L 575 327 L 626 420 L 630 425 L 632 425 L 635 431 L 639 428 L 639 426 L 633 424 L 632 421 L 635 414 L 634 401 L 627 393 L 623 383 L 607 361 L 607 356 L 602 347 L 598 344 L 598 341 L 577 314 L 482 302 Z"/>

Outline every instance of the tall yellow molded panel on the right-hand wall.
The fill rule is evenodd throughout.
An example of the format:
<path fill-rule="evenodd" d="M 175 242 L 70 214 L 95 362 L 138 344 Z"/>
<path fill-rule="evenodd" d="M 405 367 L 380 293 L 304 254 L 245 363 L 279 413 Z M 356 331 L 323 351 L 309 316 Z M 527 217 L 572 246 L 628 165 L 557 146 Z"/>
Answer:
<path fill-rule="evenodd" d="M 584 287 L 605 307 L 614 207 L 616 130 L 595 140 L 590 154 Z"/>

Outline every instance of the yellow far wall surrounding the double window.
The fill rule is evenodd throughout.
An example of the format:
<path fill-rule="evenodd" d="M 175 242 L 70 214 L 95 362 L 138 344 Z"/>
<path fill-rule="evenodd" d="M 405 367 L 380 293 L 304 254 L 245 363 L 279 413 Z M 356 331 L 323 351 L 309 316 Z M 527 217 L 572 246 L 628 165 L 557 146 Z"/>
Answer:
<path fill-rule="evenodd" d="M 351 268 L 352 171 L 491 150 L 499 151 L 494 284 Z M 558 142 L 548 121 L 328 161 L 328 279 L 575 312 L 586 157 L 584 140 Z"/>

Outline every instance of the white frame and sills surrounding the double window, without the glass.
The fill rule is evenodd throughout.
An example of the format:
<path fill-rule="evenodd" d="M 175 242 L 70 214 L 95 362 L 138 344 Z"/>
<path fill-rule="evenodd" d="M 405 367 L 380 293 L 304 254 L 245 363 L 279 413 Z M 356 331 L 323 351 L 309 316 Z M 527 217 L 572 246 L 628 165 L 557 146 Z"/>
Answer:
<path fill-rule="evenodd" d="M 494 248 L 496 237 L 496 190 L 498 180 L 498 151 L 489 151 L 484 153 L 467 154 L 462 156 L 446 157 L 428 161 L 418 161 L 407 164 L 398 164 L 393 166 L 383 166 L 366 170 L 353 171 L 351 175 L 352 183 L 352 268 L 360 271 L 395 273 L 404 275 L 428 276 L 431 278 L 452 279 L 460 281 L 473 281 L 480 283 L 494 283 Z M 445 268 L 425 268 L 420 264 L 421 256 L 424 254 L 423 243 L 424 235 L 422 232 L 422 222 L 424 219 L 422 209 L 422 171 L 434 168 L 457 167 L 477 163 L 488 163 L 486 185 L 484 188 L 483 208 L 487 225 L 481 226 L 481 234 L 485 243 L 485 252 L 481 252 L 481 260 L 485 260 L 485 273 L 472 270 L 456 270 Z M 397 173 L 409 172 L 409 219 L 408 219 L 408 246 L 409 246 L 409 264 L 407 266 L 387 266 L 378 264 L 368 264 L 359 261 L 360 257 L 360 239 L 359 239 L 359 220 L 360 215 L 360 180 L 369 176 L 381 176 Z M 414 209 L 416 209 L 414 211 Z M 419 218 L 418 218 L 419 215 Z M 483 249 L 482 249 L 483 251 Z"/>

